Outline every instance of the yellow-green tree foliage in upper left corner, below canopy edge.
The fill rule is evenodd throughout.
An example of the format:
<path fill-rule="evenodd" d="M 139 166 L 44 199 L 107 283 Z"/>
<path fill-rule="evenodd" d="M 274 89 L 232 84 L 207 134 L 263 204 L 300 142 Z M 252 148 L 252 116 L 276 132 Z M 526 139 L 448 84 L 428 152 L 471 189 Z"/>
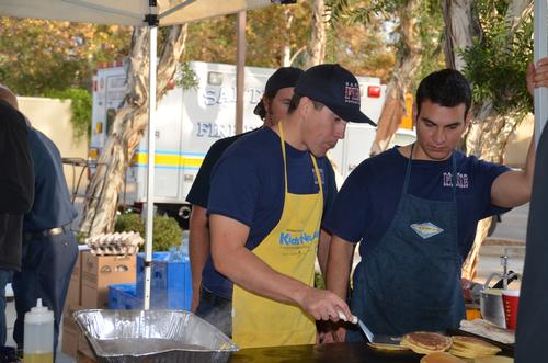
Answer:
<path fill-rule="evenodd" d="M 118 60 L 130 27 L 0 16 L 0 77 L 15 93 L 91 89 L 98 61 Z"/>

